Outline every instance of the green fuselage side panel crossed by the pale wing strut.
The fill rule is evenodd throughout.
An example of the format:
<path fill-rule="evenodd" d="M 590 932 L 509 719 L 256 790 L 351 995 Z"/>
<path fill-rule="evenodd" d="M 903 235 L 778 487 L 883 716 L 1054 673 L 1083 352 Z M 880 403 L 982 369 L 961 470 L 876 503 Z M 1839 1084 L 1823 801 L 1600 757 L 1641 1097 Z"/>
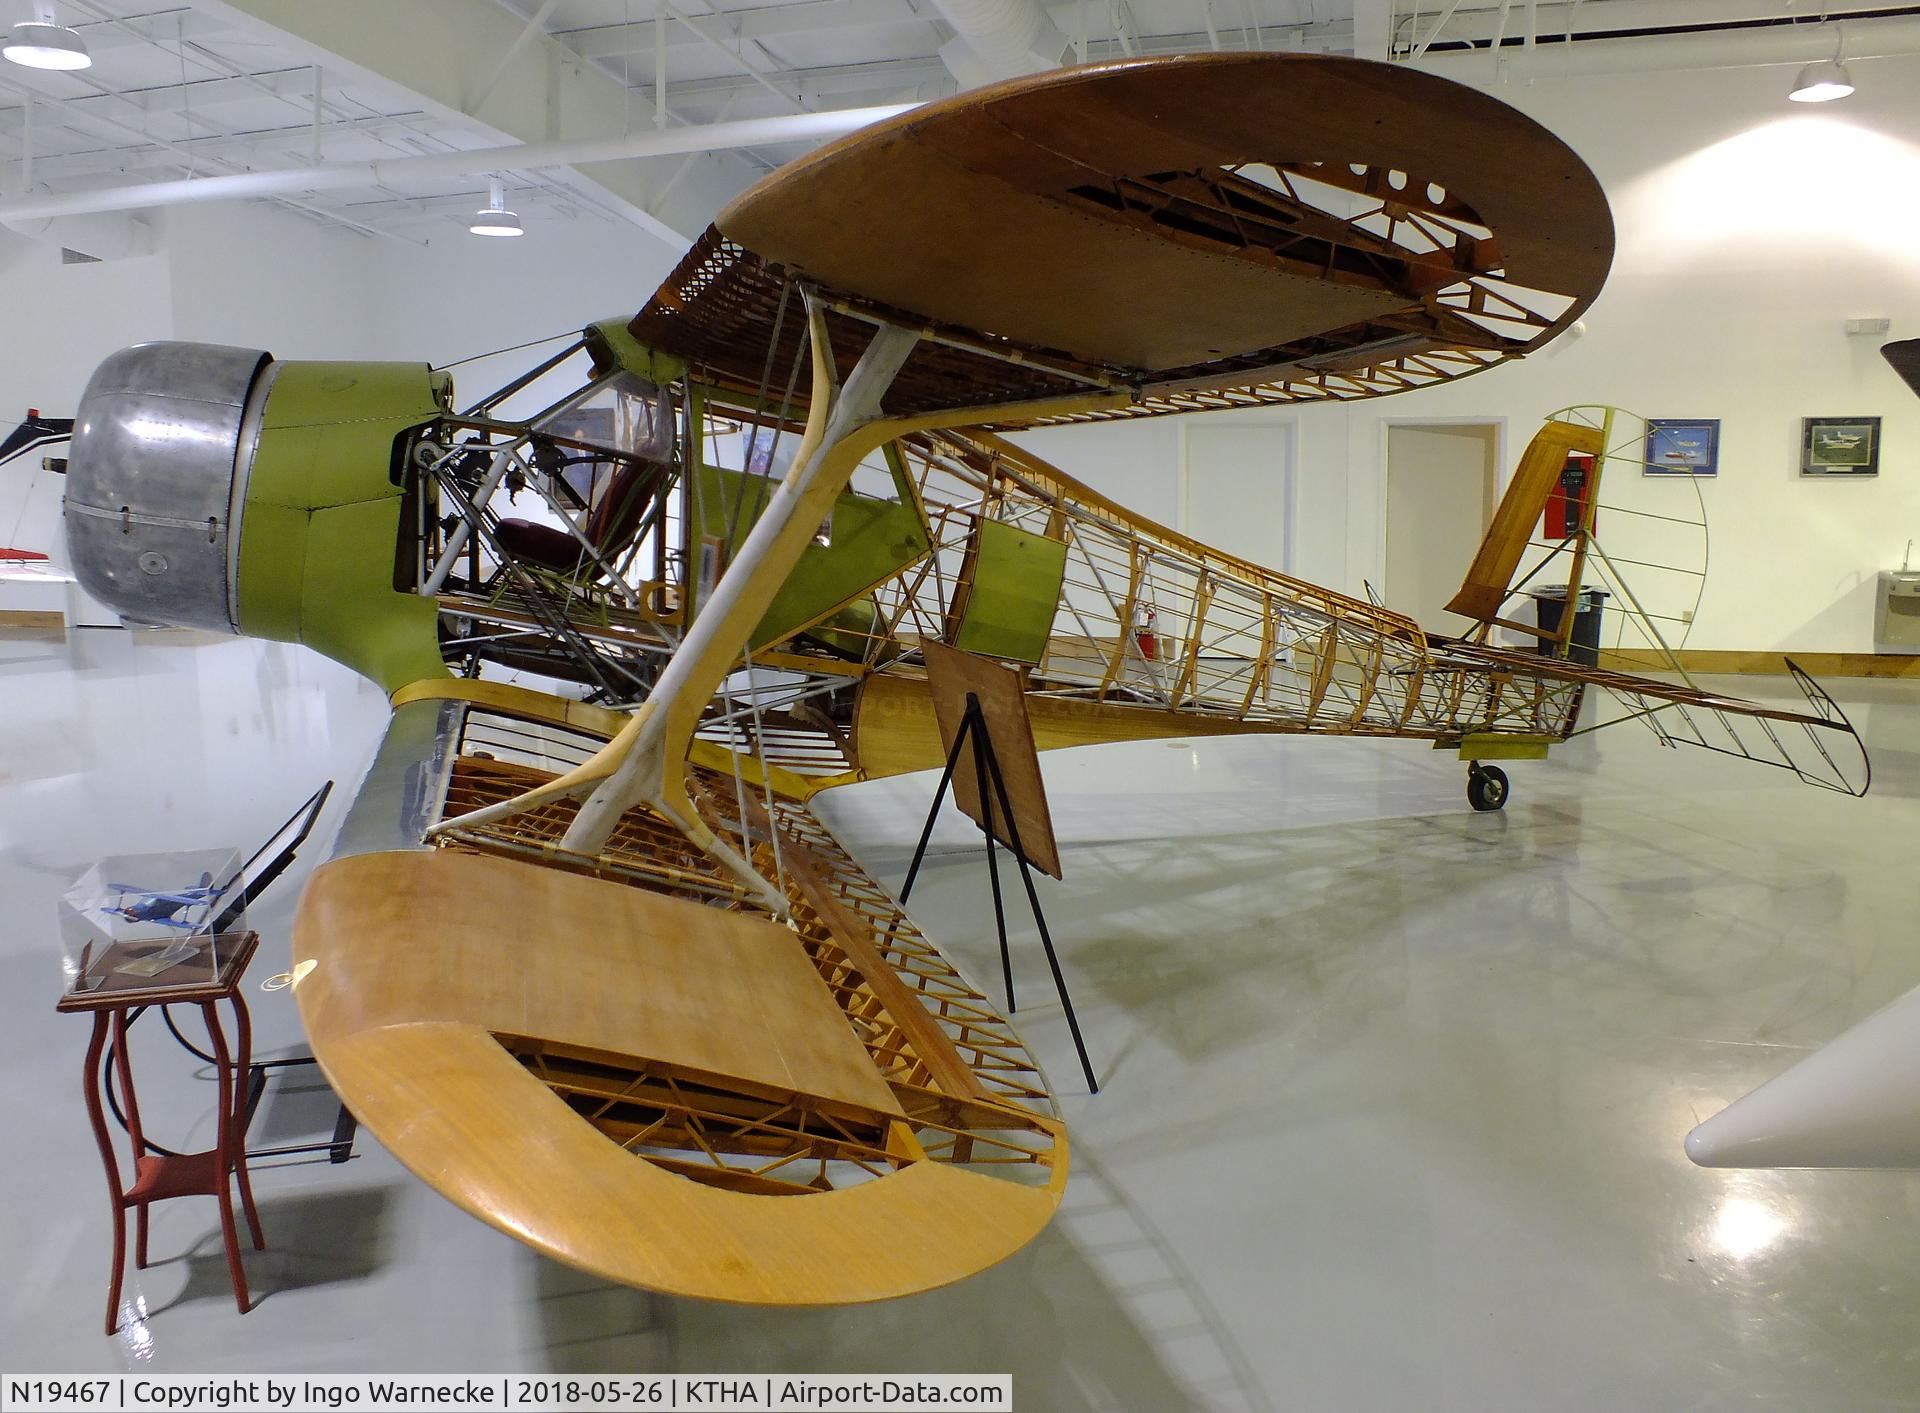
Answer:
<path fill-rule="evenodd" d="M 732 553 L 760 518 L 778 484 L 737 470 L 701 467 L 697 490 L 701 534 L 726 541 Z M 745 503 L 741 503 L 743 491 Z M 885 584 L 924 559 L 929 549 L 927 526 L 920 518 L 918 505 L 847 491 L 833 503 L 828 541 L 814 541 L 801 553 L 760 626 L 753 630 L 753 647 L 793 637 L 801 628 L 820 622 L 841 605 Z"/>

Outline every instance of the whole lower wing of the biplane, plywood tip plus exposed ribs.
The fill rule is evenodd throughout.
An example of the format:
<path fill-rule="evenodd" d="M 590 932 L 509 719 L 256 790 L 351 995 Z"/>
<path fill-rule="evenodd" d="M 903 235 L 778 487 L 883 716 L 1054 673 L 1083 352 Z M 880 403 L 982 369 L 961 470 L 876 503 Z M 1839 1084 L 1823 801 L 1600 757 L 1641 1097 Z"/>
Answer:
<path fill-rule="evenodd" d="M 612 728 L 434 687 L 294 923 L 313 1052 L 403 1165 L 555 1259 L 741 1304 L 929 1290 L 1046 1225 L 1066 1131 L 1035 1066 L 804 806 L 749 812 L 781 833 L 793 925 L 714 906 L 726 881 L 637 812 L 597 860 L 555 847 L 572 801 L 420 849 L 449 793 L 543 778 L 503 751 L 559 764 Z M 732 781 L 689 770 L 726 826 Z"/>

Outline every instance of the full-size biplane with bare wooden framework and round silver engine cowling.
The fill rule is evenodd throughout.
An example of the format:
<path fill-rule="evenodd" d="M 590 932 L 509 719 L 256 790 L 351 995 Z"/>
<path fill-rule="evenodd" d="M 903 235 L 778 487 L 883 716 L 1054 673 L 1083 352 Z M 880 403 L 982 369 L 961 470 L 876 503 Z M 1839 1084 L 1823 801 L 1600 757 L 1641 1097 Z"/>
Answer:
<path fill-rule="evenodd" d="M 1498 808 L 1492 762 L 1609 693 L 1663 739 L 1864 787 L 1811 683 L 1803 712 L 1730 701 L 1513 616 L 1546 563 L 1609 568 L 1592 497 L 1544 549 L 1536 524 L 1569 455 L 1644 445 L 1611 413 L 1528 447 L 1463 639 L 1002 438 L 1480 372 L 1578 319 L 1611 248 L 1578 157 L 1442 79 L 1060 71 L 774 173 L 637 317 L 476 401 L 424 365 L 127 349 L 86 390 L 69 543 L 132 618 L 301 641 L 392 693 L 294 956 L 315 1054 L 403 1163 L 612 1281 L 899 1296 L 1018 1250 L 1068 1171 L 1012 1027 L 808 808 L 941 762 L 924 643 L 1021 664 L 1043 747 L 1411 737 Z"/>

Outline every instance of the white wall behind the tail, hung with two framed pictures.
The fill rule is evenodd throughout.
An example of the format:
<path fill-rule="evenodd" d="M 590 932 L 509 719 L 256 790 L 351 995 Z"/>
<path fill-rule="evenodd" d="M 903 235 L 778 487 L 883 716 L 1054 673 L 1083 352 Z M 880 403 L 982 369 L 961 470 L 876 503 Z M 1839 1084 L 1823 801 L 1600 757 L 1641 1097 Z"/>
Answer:
<path fill-rule="evenodd" d="M 1565 405 L 1718 417 L 1720 476 L 1699 486 L 1711 576 L 1688 645 L 1872 651 L 1872 574 L 1920 536 L 1920 401 L 1880 359 L 1885 340 L 1843 324 L 1882 315 L 1885 338 L 1920 336 L 1920 60 L 1851 67 L 1859 92 L 1811 111 L 1786 102 L 1793 71 L 1778 67 L 1498 90 L 1607 186 L 1613 276 L 1584 338 L 1523 363 L 1365 403 L 1208 415 L 1298 422 L 1296 572 L 1356 595 L 1380 582 L 1384 419 L 1509 419 L 1511 470 Z M 1801 480 L 1799 419 L 1862 413 L 1885 419 L 1880 476 Z M 1023 440 L 1167 518 L 1181 420 L 1196 419 Z M 1688 482 L 1640 476 L 1615 476 L 1601 501 L 1695 505 Z"/>

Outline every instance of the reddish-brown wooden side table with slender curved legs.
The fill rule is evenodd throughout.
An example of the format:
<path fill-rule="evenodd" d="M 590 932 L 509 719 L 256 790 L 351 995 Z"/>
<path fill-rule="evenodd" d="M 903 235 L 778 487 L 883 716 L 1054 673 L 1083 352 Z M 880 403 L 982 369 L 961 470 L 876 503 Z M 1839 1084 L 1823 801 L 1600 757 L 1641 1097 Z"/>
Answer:
<path fill-rule="evenodd" d="M 167 943 L 113 943 L 81 962 L 73 989 L 60 998 L 56 1010 L 92 1012 L 94 1035 L 86 1044 L 83 1092 L 86 1117 L 94 1123 L 94 1140 L 108 1169 L 108 1196 L 113 1202 L 113 1279 L 108 1284 L 108 1334 L 119 1329 L 121 1277 L 127 1267 L 127 1208 L 134 1209 L 134 1265 L 146 1267 L 146 1209 L 154 1202 L 184 1196 L 211 1196 L 221 1204 L 221 1234 L 227 1242 L 227 1271 L 234 1282 L 234 1302 L 244 1315 L 252 1302 L 246 1290 L 246 1271 L 240 1269 L 240 1238 L 234 1231 L 232 1185 L 240 1185 L 240 1204 L 255 1248 L 267 1240 L 253 1209 L 253 1185 L 246 1171 L 246 1085 L 253 1058 L 253 1027 L 240 977 L 259 948 L 259 933 L 219 933 L 194 939 L 186 960 L 142 975 L 148 958 Z M 228 1048 L 217 1004 L 228 1002 L 234 1014 L 234 1044 Z M 198 1006 L 213 1042 L 213 1067 L 219 1077 L 219 1112 L 213 1148 L 198 1154 L 150 1154 L 140 1131 L 140 1102 L 134 1098 L 132 1058 L 127 1052 L 129 1012 L 146 1006 Z M 121 1165 L 113 1135 L 108 1129 L 104 1092 L 108 1085 L 106 1048 L 113 1039 L 113 1067 L 127 1104 L 127 1135 L 132 1138 L 132 1185 L 121 1186 Z"/>

